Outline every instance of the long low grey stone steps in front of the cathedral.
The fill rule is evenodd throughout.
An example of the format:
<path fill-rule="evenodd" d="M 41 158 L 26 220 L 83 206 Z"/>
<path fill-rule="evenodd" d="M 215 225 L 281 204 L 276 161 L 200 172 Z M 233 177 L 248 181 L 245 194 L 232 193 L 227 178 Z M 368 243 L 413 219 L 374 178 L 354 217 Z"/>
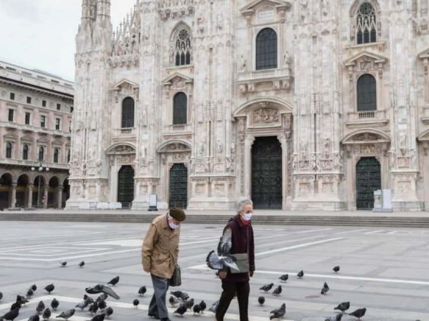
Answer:
<path fill-rule="evenodd" d="M 150 223 L 159 215 L 156 213 L 68 213 L 61 212 L 8 212 L 0 213 L 0 221 L 58 221 L 58 222 L 111 222 L 111 223 Z M 364 226 L 364 227 L 403 227 L 429 228 L 427 217 L 369 217 L 369 216 L 310 216 L 310 215 L 254 215 L 253 224 L 264 225 L 307 225 L 307 226 Z M 356 212 L 355 212 L 356 213 Z M 219 224 L 227 222 L 231 215 L 192 215 L 188 214 L 187 223 Z"/>

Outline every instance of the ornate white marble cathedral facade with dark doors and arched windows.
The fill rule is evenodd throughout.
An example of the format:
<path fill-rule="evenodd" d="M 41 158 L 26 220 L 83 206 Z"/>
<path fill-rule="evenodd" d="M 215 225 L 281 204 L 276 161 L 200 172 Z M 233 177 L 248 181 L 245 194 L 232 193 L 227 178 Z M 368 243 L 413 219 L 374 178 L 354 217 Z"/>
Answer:
<path fill-rule="evenodd" d="M 83 0 L 67 207 L 428 210 L 428 3 Z"/>

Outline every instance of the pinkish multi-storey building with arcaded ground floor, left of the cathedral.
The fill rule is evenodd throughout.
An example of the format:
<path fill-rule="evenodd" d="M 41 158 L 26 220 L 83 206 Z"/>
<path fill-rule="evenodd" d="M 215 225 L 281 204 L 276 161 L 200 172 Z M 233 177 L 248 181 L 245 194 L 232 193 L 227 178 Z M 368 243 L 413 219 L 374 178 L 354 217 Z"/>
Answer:
<path fill-rule="evenodd" d="M 0 209 L 69 198 L 74 83 L 0 61 Z"/>

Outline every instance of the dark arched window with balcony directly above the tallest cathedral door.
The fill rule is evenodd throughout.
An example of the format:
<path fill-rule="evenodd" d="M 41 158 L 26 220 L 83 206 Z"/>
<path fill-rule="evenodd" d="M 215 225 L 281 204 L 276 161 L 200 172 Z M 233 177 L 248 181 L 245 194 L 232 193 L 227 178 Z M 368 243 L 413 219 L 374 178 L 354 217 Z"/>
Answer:
<path fill-rule="evenodd" d="M 277 68 L 277 33 L 264 28 L 256 36 L 256 70 Z"/>

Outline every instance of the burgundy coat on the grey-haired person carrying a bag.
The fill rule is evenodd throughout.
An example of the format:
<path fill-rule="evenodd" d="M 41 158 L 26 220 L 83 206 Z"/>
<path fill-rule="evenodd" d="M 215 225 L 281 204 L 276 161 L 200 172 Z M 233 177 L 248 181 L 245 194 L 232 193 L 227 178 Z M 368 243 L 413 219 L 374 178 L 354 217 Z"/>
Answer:
<path fill-rule="evenodd" d="M 255 271 L 255 245 L 253 241 L 252 224 L 245 226 L 238 215 L 231 218 L 225 227 L 232 231 L 232 248 L 231 254 L 247 253 L 247 235 L 249 235 L 249 267 L 250 271 Z M 248 232 L 247 232 L 248 231 Z M 228 271 L 227 277 L 224 279 L 227 282 L 246 282 L 249 281 L 249 274 L 246 273 L 231 273 Z"/>

